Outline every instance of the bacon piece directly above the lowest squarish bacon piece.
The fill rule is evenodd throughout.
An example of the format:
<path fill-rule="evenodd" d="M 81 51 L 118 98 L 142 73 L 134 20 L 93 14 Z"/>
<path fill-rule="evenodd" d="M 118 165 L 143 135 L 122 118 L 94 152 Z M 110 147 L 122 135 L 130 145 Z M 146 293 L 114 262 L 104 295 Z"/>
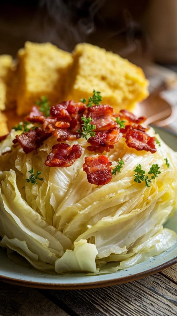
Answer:
<path fill-rule="evenodd" d="M 103 153 L 103 151 L 110 151 L 114 148 L 114 144 L 120 139 L 119 129 L 113 129 L 112 131 L 96 132 L 95 137 L 90 137 L 88 143 L 92 146 L 88 146 L 87 149 L 96 153 Z"/>

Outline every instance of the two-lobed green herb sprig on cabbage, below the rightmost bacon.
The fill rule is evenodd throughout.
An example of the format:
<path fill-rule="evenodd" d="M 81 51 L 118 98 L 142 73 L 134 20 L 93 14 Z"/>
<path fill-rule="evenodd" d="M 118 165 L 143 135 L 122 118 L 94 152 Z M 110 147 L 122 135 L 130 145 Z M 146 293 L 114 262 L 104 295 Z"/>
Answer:
<path fill-rule="evenodd" d="M 148 177 L 148 175 L 145 175 L 145 170 L 142 170 L 142 167 L 141 165 L 139 164 L 133 171 L 136 172 L 136 174 L 134 174 L 135 176 L 135 179 L 134 181 L 135 182 L 138 182 L 138 183 L 141 183 L 143 181 L 145 181 L 145 185 L 149 188 L 150 185 L 149 183 L 151 183 L 151 181 L 153 179 L 155 179 L 159 173 L 161 173 L 159 171 L 160 167 L 158 167 L 157 164 L 153 164 L 151 167 L 150 167 L 150 170 L 148 172 L 148 174 L 153 174 L 151 175 L 151 178 Z"/>

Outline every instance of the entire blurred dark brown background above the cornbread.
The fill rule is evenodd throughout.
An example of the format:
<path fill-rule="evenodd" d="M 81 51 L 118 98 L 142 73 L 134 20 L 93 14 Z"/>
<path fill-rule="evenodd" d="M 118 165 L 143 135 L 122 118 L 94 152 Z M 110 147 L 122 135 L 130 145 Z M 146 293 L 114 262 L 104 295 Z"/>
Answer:
<path fill-rule="evenodd" d="M 15 56 L 26 40 L 50 41 L 69 52 L 86 41 L 176 70 L 177 1 L 1 0 L 0 54 Z"/>

